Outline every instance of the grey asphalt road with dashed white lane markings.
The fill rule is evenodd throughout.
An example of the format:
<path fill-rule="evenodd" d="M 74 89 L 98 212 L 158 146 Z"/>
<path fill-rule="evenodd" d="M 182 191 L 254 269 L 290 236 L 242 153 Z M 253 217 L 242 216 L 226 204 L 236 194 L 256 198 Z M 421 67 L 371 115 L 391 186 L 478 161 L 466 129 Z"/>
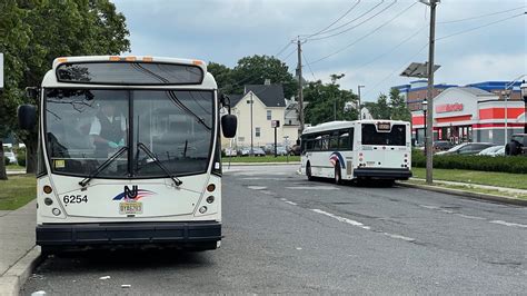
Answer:
<path fill-rule="evenodd" d="M 526 208 L 295 170 L 226 172 L 219 250 L 48 258 L 22 294 L 527 292 Z"/>

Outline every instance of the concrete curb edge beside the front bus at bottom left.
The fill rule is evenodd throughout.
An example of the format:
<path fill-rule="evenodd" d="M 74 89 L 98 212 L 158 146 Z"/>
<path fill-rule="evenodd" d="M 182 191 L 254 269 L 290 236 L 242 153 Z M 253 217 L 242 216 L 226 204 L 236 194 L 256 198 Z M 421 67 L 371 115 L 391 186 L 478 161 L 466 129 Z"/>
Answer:
<path fill-rule="evenodd" d="M 34 246 L 0 277 L 0 295 L 19 295 L 21 286 L 40 260 L 40 247 Z"/>

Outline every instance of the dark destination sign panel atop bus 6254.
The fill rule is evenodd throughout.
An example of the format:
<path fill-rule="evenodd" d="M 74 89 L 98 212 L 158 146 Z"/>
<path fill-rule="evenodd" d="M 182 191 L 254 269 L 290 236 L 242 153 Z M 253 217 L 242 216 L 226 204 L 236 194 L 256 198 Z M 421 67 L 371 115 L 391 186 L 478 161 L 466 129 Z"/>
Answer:
<path fill-rule="evenodd" d="M 198 85 L 201 68 L 156 62 L 79 62 L 57 68 L 60 82 L 92 85 Z"/>

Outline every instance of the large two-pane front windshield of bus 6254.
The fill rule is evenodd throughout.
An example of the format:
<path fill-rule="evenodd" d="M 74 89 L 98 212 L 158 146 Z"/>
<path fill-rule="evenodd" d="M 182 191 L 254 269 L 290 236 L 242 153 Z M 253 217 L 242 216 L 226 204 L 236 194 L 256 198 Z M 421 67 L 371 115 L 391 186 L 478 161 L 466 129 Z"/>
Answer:
<path fill-rule="evenodd" d="M 86 177 L 122 147 L 102 178 L 166 177 L 207 170 L 213 92 L 47 89 L 46 145 L 53 172 Z M 151 155 L 139 149 L 145 145 Z"/>

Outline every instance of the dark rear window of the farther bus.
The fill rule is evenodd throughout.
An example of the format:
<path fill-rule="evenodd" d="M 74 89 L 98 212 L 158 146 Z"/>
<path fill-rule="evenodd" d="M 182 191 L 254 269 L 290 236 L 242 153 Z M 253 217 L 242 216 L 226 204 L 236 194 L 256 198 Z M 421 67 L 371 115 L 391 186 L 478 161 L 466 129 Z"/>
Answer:
<path fill-rule="evenodd" d="M 406 146 L 406 126 L 394 125 L 390 131 L 377 131 L 374 124 L 364 124 L 362 145 Z"/>

